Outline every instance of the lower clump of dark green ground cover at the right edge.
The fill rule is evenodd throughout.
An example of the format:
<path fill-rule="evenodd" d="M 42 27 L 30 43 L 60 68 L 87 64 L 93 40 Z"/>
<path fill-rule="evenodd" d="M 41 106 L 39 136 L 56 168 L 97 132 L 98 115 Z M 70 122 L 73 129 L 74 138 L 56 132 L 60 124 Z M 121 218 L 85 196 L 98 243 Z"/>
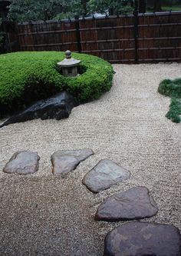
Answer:
<path fill-rule="evenodd" d="M 175 123 L 179 123 L 181 121 L 181 99 L 171 99 L 171 104 L 169 105 L 169 111 L 166 114 L 166 118 Z"/>

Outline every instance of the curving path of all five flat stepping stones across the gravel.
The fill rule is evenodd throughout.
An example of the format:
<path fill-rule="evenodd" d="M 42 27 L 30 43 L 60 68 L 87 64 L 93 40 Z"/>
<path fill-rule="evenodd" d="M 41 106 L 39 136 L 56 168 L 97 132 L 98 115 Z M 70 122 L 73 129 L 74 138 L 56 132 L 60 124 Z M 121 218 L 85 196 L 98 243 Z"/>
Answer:
<path fill-rule="evenodd" d="M 77 168 L 94 152 L 91 149 L 62 150 L 51 155 L 52 173 L 64 177 Z M 38 153 L 18 151 L 3 169 L 9 174 L 33 174 L 38 171 Z M 120 181 L 130 178 L 130 171 L 121 168 L 113 161 L 99 161 L 84 176 L 83 184 L 98 193 Z M 123 221 L 150 218 L 158 211 L 150 191 L 145 187 L 130 188 L 114 194 L 100 204 L 95 214 L 97 221 Z M 110 231 L 104 241 L 104 256 L 179 256 L 181 236 L 173 225 L 146 222 L 130 222 Z"/>

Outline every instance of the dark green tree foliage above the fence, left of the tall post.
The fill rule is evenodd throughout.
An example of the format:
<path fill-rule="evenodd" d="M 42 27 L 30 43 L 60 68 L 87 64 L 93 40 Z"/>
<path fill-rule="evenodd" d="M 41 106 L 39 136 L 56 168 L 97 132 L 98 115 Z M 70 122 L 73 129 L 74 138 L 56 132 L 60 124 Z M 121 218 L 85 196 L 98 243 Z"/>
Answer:
<path fill-rule="evenodd" d="M 15 0 L 9 6 L 8 18 L 18 22 L 74 18 L 94 12 L 127 14 L 133 11 L 133 0 Z"/>

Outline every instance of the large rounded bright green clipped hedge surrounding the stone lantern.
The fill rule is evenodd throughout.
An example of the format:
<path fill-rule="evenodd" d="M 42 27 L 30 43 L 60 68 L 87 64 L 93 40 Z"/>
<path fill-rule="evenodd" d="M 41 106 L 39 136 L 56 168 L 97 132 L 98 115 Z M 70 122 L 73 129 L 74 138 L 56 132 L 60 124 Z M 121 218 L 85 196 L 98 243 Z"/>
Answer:
<path fill-rule="evenodd" d="M 25 108 L 31 102 L 67 90 L 80 103 L 91 101 L 112 85 L 113 68 L 103 59 L 72 54 L 81 60 L 81 75 L 65 78 L 56 63 L 64 52 L 15 52 L 0 55 L 0 107 L 5 111 Z"/>

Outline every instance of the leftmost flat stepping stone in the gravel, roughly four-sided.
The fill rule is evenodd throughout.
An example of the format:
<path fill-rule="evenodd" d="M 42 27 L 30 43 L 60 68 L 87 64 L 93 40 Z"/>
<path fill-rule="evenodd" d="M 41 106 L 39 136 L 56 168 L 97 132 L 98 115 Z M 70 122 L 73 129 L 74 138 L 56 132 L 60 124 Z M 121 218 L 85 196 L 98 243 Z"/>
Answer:
<path fill-rule="evenodd" d="M 28 175 L 38 171 L 38 161 L 40 157 L 37 152 L 18 151 L 8 161 L 3 169 L 7 173 L 18 173 L 18 175 Z"/>

